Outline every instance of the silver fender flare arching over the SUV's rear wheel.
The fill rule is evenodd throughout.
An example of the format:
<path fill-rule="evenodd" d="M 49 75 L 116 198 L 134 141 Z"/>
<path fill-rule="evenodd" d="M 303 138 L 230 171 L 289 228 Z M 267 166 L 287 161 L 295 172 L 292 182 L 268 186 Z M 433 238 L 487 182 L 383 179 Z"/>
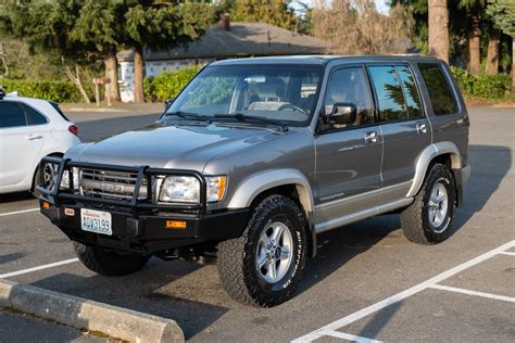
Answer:
<path fill-rule="evenodd" d="M 417 162 L 415 164 L 415 177 L 413 178 L 412 187 L 410 188 L 406 196 L 415 196 L 416 193 L 418 193 L 418 190 L 424 182 L 424 178 L 426 177 L 427 168 L 429 167 L 432 158 L 443 154 L 451 154 L 453 169 L 460 169 L 462 167 L 462 158 L 456 144 L 450 141 L 430 144 L 418 155 Z"/>

